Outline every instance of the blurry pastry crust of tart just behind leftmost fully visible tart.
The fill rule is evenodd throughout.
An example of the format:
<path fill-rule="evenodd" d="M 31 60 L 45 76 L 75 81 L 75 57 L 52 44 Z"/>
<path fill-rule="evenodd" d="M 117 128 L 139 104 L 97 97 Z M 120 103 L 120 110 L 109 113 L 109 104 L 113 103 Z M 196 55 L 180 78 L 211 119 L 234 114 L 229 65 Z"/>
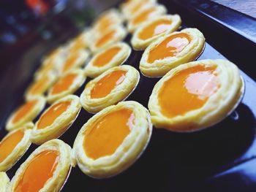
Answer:
<path fill-rule="evenodd" d="M 46 91 L 48 91 L 48 88 L 50 88 L 51 85 L 56 81 L 56 75 L 52 73 L 45 74 L 43 77 L 39 79 L 35 79 L 33 82 L 31 82 L 31 85 L 29 85 L 29 88 L 26 89 L 25 92 L 25 99 L 26 101 L 30 101 L 31 99 L 35 99 L 38 96 L 43 96 Z M 31 89 L 34 86 L 34 83 L 39 82 L 39 81 L 45 81 L 42 83 L 42 86 L 40 88 L 39 93 L 31 93 Z"/>

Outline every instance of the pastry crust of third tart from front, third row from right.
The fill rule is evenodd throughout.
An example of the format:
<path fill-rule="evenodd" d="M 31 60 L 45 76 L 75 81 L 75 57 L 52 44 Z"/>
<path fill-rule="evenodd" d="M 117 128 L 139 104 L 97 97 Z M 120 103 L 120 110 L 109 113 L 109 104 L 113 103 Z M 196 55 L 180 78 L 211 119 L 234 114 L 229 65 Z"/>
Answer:
<path fill-rule="evenodd" d="M 68 96 L 75 93 L 75 91 L 77 91 L 78 88 L 80 88 L 80 86 L 83 85 L 83 82 L 85 82 L 86 80 L 86 76 L 82 69 L 74 69 L 68 73 L 65 73 L 59 78 L 59 80 L 61 80 L 61 78 L 67 77 L 67 75 L 69 74 L 76 74 L 77 76 L 75 77 L 75 80 L 73 80 L 72 84 L 69 86 L 67 90 L 61 91 L 60 93 L 55 93 L 55 94 L 52 93 L 53 86 L 54 86 L 53 85 L 52 88 L 50 88 L 50 90 L 48 91 L 48 96 L 47 96 L 48 103 L 52 104 L 53 102 L 63 98 L 64 96 Z M 59 82 L 59 80 L 57 82 Z"/>

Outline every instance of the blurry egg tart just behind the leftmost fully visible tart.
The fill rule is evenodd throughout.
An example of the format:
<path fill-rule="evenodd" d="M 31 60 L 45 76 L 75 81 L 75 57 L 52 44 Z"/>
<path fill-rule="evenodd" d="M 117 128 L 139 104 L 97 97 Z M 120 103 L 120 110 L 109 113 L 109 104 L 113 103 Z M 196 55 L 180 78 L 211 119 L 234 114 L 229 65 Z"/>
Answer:
<path fill-rule="evenodd" d="M 29 101 L 38 96 L 43 96 L 45 92 L 48 91 L 48 88 L 50 88 L 50 86 L 53 85 L 53 82 L 55 81 L 56 75 L 51 73 L 45 74 L 39 79 L 35 79 L 33 82 L 31 82 L 31 85 L 29 85 L 29 88 L 27 88 L 25 92 L 26 100 Z"/>

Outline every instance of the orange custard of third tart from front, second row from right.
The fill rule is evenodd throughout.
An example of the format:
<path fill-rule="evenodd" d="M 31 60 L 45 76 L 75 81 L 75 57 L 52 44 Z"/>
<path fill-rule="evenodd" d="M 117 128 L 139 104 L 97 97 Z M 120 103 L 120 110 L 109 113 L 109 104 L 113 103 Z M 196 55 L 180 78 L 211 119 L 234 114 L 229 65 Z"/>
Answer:
<path fill-rule="evenodd" d="M 95 58 L 93 65 L 105 66 L 105 64 L 108 64 L 120 50 L 121 47 L 111 47 L 102 54 L 98 55 L 97 58 Z"/>

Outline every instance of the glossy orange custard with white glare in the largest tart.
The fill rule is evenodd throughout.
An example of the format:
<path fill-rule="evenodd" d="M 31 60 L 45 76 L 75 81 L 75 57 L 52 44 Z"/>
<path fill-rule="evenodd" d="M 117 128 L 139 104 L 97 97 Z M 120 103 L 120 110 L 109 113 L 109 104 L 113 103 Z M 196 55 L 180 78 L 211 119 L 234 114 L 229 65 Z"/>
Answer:
<path fill-rule="evenodd" d="M 219 88 L 214 66 L 193 66 L 164 82 L 158 100 L 168 118 L 200 109 Z"/>

